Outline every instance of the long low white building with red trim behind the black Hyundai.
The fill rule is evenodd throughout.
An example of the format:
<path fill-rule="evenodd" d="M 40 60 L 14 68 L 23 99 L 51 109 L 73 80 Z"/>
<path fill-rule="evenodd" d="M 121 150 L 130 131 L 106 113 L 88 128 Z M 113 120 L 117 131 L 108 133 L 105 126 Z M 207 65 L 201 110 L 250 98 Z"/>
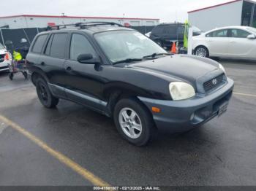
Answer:
<path fill-rule="evenodd" d="M 47 26 L 73 24 L 80 22 L 105 21 L 119 23 L 124 26 L 157 26 L 159 19 L 131 17 L 75 17 L 51 15 L 14 15 L 0 17 L 0 28 L 45 28 Z"/>

